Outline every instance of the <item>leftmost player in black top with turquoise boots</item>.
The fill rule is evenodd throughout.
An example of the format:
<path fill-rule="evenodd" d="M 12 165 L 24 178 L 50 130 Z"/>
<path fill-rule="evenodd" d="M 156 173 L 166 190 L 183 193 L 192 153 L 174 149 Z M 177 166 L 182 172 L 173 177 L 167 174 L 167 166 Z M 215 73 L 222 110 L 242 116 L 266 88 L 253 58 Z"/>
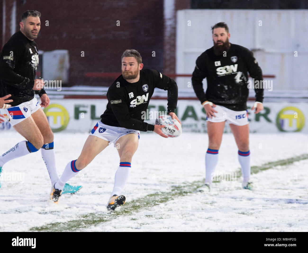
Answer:
<path fill-rule="evenodd" d="M 0 109 L 0 112 L 27 141 L 19 142 L 0 156 L 0 170 L 6 162 L 41 149 L 53 186 L 59 179 L 55 167 L 54 135 L 41 108 L 49 105 L 49 98 L 42 89 L 44 81 L 34 80 L 39 64 L 38 47 L 34 39 L 40 31 L 40 16 L 41 13 L 36 10 L 24 12 L 19 23 L 20 31 L 13 34 L 1 51 L 0 93 L 11 94 L 14 101 L 10 101 L 11 107 Z M 39 94 L 41 104 L 35 98 L 35 93 Z M 73 188 L 67 185 L 64 192 Z"/>

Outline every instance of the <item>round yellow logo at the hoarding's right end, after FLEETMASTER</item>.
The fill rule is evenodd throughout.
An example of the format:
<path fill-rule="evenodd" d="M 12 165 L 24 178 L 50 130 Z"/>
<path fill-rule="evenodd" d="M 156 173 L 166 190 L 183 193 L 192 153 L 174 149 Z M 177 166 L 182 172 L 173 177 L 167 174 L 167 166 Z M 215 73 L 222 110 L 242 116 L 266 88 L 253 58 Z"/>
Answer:
<path fill-rule="evenodd" d="M 301 110 L 289 106 L 278 112 L 276 126 L 282 132 L 299 132 L 305 125 L 305 117 Z"/>

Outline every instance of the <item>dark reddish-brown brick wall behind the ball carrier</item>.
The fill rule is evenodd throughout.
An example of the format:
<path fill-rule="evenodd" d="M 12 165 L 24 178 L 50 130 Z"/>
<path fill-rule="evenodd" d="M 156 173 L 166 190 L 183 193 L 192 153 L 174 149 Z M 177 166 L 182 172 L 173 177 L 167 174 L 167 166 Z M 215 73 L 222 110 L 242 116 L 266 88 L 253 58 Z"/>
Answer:
<path fill-rule="evenodd" d="M 6 42 L 10 38 L 13 1 L 3 1 L 6 2 Z M 189 8 L 189 3 L 190 0 L 175 0 L 174 21 L 176 10 Z M 125 49 L 138 50 L 144 68 L 175 72 L 176 23 L 172 25 L 170 36 L 164 37 L 163 0 L 16 1 L 16 7 L 17 30 L 25 10 L 41 12 L 41 30 L 35 40 L 40 50 L 69 50 L 69 86 L 109 86 L 113 78 L 89 78 L 85 74 L 120 72 L 120 56 Z M 45 25 L 47 20 L 49 26 Z M 120 26 L 116 25 L 118 20 Z M 81 51 L 84 51 L 84 57 L 81 57 Z M 155 57 L 152 57 L 152 51 L 155 51 Z"/>

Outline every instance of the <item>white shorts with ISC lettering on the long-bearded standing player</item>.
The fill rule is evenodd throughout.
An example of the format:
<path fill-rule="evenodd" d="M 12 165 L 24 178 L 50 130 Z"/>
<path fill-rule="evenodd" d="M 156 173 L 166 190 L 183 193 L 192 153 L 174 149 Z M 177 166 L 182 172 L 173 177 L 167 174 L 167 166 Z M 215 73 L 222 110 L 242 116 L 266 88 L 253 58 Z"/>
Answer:
<path fill-rule="evenodd" d="M 217 111 L 217 113 L 214 112 L 216 117 L 212 117 L 212 119 L 206 117 L 207 121 L 214 123 L 227 121 L 228 124 L 234 124 L 237 126 L 244 126 L 249 123 L 247 110 L 233 111 L 221 105 L 216 105 L 216 107 L 213 107 L 213 109 Z"/>

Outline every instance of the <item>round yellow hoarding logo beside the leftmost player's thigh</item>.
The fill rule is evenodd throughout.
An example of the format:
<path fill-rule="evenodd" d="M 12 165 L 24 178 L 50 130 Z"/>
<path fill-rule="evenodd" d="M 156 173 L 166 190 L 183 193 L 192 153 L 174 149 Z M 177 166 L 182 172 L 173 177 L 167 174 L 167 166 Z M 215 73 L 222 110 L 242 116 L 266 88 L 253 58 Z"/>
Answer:
<path fill-rule="evenodd" d="M 67 127 L 70 118 L 67 110 L 62 105 L 51 104 L 44 109 L 44 112 L 53 132 L 62 131 Z M 49 117 L 51 120 L 49 120 Z"/>

